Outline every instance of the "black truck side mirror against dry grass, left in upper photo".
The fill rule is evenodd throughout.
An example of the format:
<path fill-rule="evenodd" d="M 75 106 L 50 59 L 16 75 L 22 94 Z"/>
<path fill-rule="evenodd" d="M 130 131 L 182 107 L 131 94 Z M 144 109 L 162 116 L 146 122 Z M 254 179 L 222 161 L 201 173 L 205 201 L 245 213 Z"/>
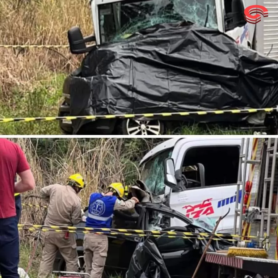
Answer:
<path fill-rule="evenodd" d="M 68 31 L 68 40 L 70 44 L 70 52 L 72 54 L 82 54 L 90 52 L 91 50 L 96 48 L 95 45 L 86 47 L 86 42 L 95 41 L 95 36 L 88 36 L 83 38 L 79 27 L 70 28 L 70 30 Z"/>

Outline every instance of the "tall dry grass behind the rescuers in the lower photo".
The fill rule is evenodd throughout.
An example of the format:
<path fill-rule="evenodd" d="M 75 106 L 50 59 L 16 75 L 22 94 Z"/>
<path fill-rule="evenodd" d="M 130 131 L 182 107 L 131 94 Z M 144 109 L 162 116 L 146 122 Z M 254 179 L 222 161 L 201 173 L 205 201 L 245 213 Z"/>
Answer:
<path fill-rule="evenodd" d="M 112 182 L 133 184 L 140 175 L 138 163 L 141 158 L 166 139 L 14 138 L 11 140 L 22 147 L 36 180 L 36 189 L 22 194 L 23 204 L 47 205 L 41 199 L 30 195 L 39 195 L 40 189 L 49 184 L 64 184 L 69 175 L 80 172 L 86 181 L 86 188 L 80 192 L 84 208 L 92 192 L 101 191 Z M 43 207 L 23 205 L 22 208 L 20 224 L 40 224 L 46 213 Z M 20 230 L 19 267 L 24 270 L 33 251 L 35 235 L 34 231 Z M 30 278 L 37 276 L 41 250 L 39 245 L 28 272 Z"/>

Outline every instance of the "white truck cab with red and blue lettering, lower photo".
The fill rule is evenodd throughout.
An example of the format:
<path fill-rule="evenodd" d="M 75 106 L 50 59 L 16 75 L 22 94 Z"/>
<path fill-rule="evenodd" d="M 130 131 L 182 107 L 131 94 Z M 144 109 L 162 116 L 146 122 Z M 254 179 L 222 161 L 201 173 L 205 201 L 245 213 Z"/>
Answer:
<path fill-rule="evenodd" d="M 167 140 L 141 160 L 141 181 L 170 208 L 197 221 L 216 221 L 230 208 L 218 231 L 233 232 L 241 141 L 231 136 Z M 250 152 L 251 145 L 252 140 Z"/>

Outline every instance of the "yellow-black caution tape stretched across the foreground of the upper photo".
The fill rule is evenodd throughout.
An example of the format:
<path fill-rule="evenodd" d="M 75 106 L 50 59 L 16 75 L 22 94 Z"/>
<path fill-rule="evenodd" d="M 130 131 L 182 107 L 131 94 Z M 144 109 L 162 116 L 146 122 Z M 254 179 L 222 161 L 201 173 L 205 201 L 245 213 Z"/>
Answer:
<path fill-rule="evenodd" d="M 211 110 L 211 111 L 193 111 L 193 112 L 173 112 L 173 113 L 141 113 L 141 114 L 118 114 L 118 115 L 90 115 L 90 116 L 64 116 L 64 117 L 27 117 L 27 118 L 0 118 L 0 122 L 33 122 L 33 121 L 54 121 L 54 120 L 97 120 L 97 119 L 115 119 L 115 118 L 151 118 L 155 116 L 190 116 L 190 115 L 208 115 L 224 113 L 255 113 L 259 111 L 273 112 L 276 108 L 252 108 L 237 110 Z"/>

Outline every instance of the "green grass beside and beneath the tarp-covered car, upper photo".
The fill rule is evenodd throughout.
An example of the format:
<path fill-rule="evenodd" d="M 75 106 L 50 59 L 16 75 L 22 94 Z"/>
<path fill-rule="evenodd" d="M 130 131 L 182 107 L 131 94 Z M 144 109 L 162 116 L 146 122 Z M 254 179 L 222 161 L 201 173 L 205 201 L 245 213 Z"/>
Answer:
<path fill-rule="evenodd" d="M 62 101 L 62 85 L 65 75 L 40 82 L 36 89 L 22 92 L 14 90 L 9 99 L 0 98 L 0 118 L 57 116 Z M 0 92 L 1 93 L 1 92 Z M 0 94 L 1 95 L 1 94 Z M 2 100 L 1 100 L 2 99 Z M 60 135 L 58 121 L 0 123 L 0 134 L 6 135 Z M 180 135 L 252 135 L 251 130 L 221 128 L 193 124 L 183 126 L 171 133 Z"/>

